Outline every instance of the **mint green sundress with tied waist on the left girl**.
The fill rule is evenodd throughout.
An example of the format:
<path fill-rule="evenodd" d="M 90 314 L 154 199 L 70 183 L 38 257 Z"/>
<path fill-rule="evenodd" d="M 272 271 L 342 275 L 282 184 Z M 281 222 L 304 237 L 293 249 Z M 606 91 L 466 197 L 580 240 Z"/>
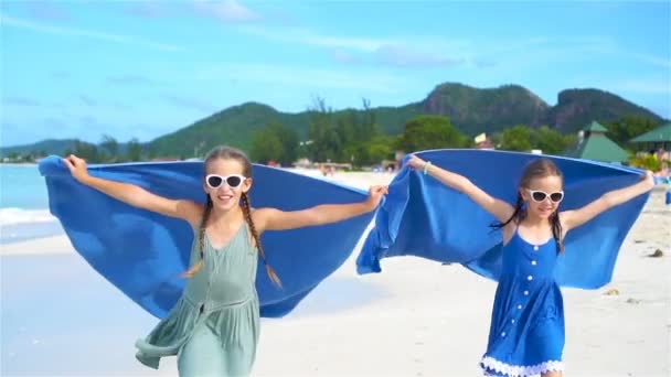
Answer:
<path fill-rule="evenodd" d="M 196 231 L 191 266 L 201 258 L 199 244 Z M 203 261 L 168 316 L 136 343 L 136 357 L 158 369 L 161 357 L 178 355 L 182 377 L 248 376 L 258 343 L 259 303 L 257 249 L 247 224 L 221 249 L 205 235 Z"/>

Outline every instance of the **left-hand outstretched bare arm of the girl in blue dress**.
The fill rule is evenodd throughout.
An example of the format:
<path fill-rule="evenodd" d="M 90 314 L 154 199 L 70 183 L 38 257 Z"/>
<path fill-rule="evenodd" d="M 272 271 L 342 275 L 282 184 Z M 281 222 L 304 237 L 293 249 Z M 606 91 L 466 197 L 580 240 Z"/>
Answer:
<path fill-rule="evenodd" d="M 489 195 L 464 175 L 459 175 L 433 165 L 429 162 L 419 159 L 415 154 L 411 157 L 407 165 L 414 170 L 425 171 L 426 174 L 440 181 L 446 186 L 452 187 L 458 192 L 468 195 L 468 197 L 470 197 L 484 211 L 492 214 L 501 223 L 505 223 L 514 213 L 512 205 Z"/>

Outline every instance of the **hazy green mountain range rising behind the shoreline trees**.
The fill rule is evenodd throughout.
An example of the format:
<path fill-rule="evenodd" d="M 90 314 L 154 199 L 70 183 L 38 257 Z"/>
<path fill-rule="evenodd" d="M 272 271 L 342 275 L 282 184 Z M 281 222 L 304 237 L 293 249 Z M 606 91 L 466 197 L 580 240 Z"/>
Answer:
<path fill-rule="evenodd" d="M 364 110 L 343 109 L 333 111 L 336 117 L 345 112 L 363 116 Z M 661 123 L 663 119 L 621 97 L 598 89 L 569 89 L 558 95 L 555 106 L 550 106 L 531 90 L 519 85 L 498 88 L 475 88 L 462 84 L 438 85 L 418 101 L 400 107 L 371 108 L 381 130 L 387 134 L 403 132 L 404 125 L 417 115 L 443 115 L 468 136 L 480 132 L 493 133 L 505 128 L 525 125 L 547 125 L 562 132 L 575 132 L 597 120 L 601 123 L 625 116 L 640 116 Z M 193 125 L 159 137 L 145 148 L 155 157 L 190 158 L 203 155 L 214 146 L 226 143 L 249 151 L 255 131 L 269 122 L 294 128 L 300 138 L 308 138 L 311 111 L 283 112 L 258 103 L 246 103 L 226 108 Z M 1 155 L 11 152 L 45 151 L 62 153 L 73 140 L 45 140 L 30 146 L 3 148 Z M 121 144 L 119 144 L 121 147 Z"/>

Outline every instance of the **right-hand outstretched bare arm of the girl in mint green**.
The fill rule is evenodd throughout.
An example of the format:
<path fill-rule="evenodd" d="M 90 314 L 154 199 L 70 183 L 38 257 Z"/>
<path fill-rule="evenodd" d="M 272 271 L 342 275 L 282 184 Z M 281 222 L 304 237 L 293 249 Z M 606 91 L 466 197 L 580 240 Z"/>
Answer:
<path fill-rule="evenodd" d="M 254 211 L 254 223 L 260 231 L 295 229 L 306 226 L 341 222 L 374 211 L 387 186 L 372 186 L 365 202 L 350 204 L 322 204 L 301 211 L 259 208 Z"/>

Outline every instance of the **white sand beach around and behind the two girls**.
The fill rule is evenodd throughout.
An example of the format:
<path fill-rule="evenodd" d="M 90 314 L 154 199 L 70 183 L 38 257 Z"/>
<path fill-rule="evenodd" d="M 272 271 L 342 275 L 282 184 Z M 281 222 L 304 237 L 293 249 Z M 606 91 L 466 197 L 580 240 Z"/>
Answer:
<path fill-rule="evenodd" d="M 327 177 L 361 188 L 391 179 Z M 566 376 L 671 375 L 671 206 L 663 200 L 662 190 L 652 193 L 610 284 L 563 290 Z M 657 249 L 662 257 L 648 257 Z M 263 320 L 254 375 L 480 376 L 496 283 L 418 258 L 385 259 L 382 273 L 358 276 L 358 251 L 294 313 Z M 135 360 L 135 340 L 156 320 L 86 266 L 65 236 L 4 245 L 1 255 L 2 333 L 13 336 L 3 341 L 2 375 L 177 375 L 174 358 L 159 371 Z M 54 359 L 51 370 L 19 365 Z"/>

